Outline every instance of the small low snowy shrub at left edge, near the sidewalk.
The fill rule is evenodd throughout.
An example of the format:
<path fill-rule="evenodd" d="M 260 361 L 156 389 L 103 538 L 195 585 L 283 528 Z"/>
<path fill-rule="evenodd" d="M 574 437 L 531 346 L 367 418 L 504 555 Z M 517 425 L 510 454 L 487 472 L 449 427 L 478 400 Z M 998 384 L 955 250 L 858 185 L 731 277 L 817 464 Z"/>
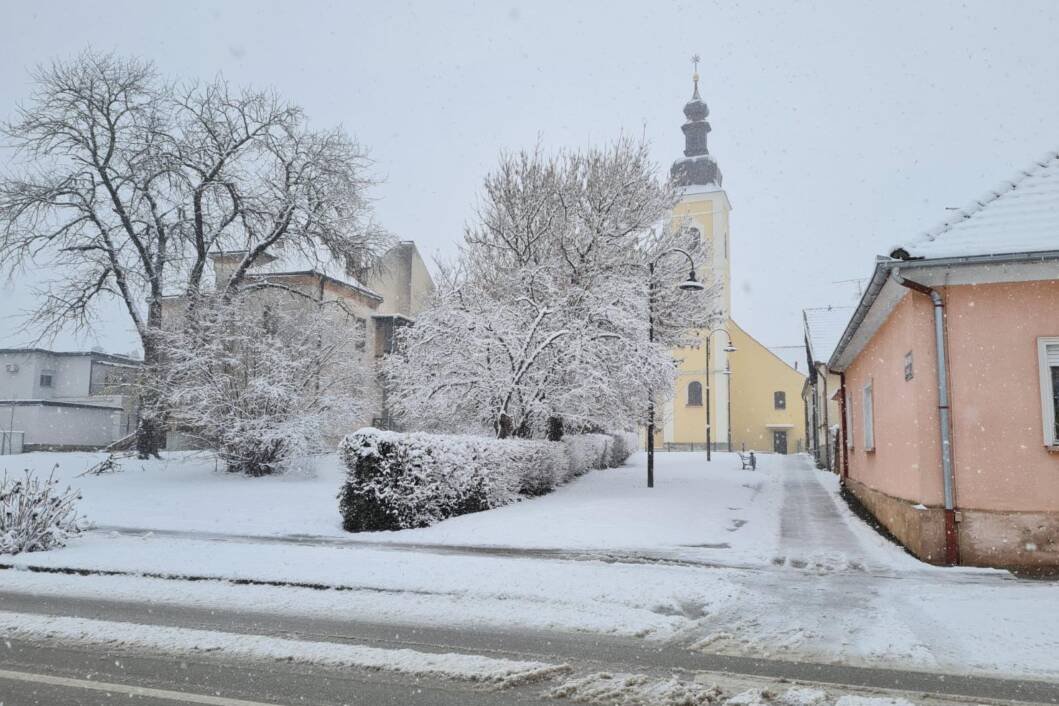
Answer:
<path fill-rule="evenodd" d="M 41 481 L 29 470 L 21 478 L 0 481 L 0 554 L 46 551 L 80 532 L 76 502 L 80 495 L 59 492 L 52 475 Z"/>

